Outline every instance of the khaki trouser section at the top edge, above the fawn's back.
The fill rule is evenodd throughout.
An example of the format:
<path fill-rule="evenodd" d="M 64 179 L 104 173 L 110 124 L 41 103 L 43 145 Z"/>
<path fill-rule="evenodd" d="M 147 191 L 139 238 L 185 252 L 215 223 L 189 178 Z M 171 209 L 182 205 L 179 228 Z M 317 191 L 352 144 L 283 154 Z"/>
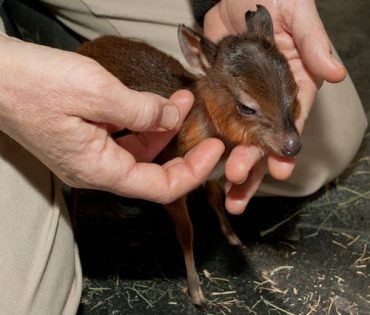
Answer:
<path fill-rule="evenodd" d="M 42 0 L 59 21 L 86 39 L 111 34 L 145 41 L 185 63 L 177 27 L 199 28 L 191 0 Z"/>

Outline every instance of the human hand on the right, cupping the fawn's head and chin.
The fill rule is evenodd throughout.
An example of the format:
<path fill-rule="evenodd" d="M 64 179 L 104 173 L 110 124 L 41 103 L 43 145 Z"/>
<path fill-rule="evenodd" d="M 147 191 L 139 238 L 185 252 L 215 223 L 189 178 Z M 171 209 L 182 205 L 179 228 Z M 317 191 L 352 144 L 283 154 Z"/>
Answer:
<path fill-rule="evenodd" d="M 297 129 L 302 132 L 318 88 L 323 80 L 340 82 L 346 71 L 331 55 L 328 36 L 318 15 L 314 0 L 221 0 L 209 10 L 204 20 L 204 33 L 217 42 L 228 34 L 246 30 L 244 14 L 264 5 L 274 24 L 275 42 L 288 59 L 299 87 L 301 105 Z M 313 44 L 314 43 L 314 44 Z M 287 179 L 295 166 L 294 158 L 264 153 L 255 146 L 235 148 L 225 167 L 227 182 L 226 208 L 237 214 L 244 211 L 255 194 L 268 168 L 278 180 Z"/>

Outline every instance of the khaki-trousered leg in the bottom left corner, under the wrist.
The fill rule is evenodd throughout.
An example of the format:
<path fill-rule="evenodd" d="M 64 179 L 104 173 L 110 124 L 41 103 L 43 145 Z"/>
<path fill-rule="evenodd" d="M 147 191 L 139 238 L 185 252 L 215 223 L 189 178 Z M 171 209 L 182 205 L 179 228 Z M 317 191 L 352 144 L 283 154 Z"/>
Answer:
<path fill-rule="evenodd" d="M 51 172 L 0 132 L 0 314 L 75 314 L 81 266 Z"/>

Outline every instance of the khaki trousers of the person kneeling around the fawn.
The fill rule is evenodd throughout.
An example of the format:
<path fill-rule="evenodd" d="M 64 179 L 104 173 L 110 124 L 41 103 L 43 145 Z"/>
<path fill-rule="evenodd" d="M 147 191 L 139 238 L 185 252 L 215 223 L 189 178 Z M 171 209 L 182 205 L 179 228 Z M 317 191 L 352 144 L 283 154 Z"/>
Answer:
<path fill-rule="evenodd" d="M 43 2 L 86 38 L 135 37 L 176 57 L 180 56 L 177 24 L 195 25 L 186 0 Z M 350 163 L 366 127 L 350 78 L 336 85 L 325 83 L 306 123 L 294 174 L 284 183 L 267 177 L 259 193 L 313 193 Z M 55 179 L 1 132 L 0 174 L 0 314 L 74 314 L 81 294 L 81 269 Z"/>

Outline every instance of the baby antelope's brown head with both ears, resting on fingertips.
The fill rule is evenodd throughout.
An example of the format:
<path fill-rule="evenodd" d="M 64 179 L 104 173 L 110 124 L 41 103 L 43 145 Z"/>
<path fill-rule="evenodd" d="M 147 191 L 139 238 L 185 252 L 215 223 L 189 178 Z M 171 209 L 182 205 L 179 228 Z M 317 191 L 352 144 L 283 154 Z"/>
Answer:
<path fill-rule="evenodd" d="M 280 156 L 301 149 L 294 121 L 298 87 L 274 41 L 272 19 L 261 5 L 245 14 L 247 32 L 217 45 L 179 27 L 185 59 L 199 74 L 197 93 L 215 133 L 231 146 L 256 144 Z"/>

